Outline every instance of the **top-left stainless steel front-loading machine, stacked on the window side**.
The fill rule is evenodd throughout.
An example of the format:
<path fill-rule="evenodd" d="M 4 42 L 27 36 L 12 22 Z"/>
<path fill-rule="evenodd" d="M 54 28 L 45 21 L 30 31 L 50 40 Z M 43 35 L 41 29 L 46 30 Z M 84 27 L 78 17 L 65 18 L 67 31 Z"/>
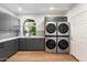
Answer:
<path fill-rule="evenodd" d="M 45 22 L 45 35 L 56 35 L 56 22 Z"/>

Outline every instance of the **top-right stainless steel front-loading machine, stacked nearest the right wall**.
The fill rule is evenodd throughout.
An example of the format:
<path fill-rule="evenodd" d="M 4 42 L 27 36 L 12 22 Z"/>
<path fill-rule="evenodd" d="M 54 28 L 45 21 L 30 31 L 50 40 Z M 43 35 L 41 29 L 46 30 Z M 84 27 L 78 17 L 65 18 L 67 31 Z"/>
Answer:
<path fill-rule="evenodd" d="M 57 22 L 57 35 L 69 35 L 69 22 Z"/>

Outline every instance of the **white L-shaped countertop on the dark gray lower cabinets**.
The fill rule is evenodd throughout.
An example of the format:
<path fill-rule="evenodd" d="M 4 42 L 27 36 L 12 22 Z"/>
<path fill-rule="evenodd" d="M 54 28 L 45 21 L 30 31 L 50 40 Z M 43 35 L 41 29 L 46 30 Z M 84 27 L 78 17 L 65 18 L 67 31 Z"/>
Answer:
<path fill-rule="evenodd" d="M 44 36 L 15 36 L 15 37 L 2 39 L 2 40 L 0 40 L 0 43 L 7 42 L 10 40 L 15 40 L 15 39 L 44 39 Z"/>

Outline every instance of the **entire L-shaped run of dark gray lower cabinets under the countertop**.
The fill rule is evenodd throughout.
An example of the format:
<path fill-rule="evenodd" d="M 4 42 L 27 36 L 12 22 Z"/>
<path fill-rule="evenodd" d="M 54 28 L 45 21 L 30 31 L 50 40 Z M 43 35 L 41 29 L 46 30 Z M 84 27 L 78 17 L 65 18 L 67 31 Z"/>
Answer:
<path fill-rule="evenodd" d="M 8 59 L 15 54 L 18 50 L 42 51 L 44 48 L 44 39 L 17 39 L 0 43 L 0 61 Z"/>

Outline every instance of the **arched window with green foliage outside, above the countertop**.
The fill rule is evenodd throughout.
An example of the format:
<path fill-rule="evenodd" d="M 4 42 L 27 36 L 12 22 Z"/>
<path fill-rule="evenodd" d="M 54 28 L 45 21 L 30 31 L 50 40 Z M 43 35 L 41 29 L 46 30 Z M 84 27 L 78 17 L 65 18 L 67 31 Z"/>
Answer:
<path fill-rule="evenodd" d="M 25 36 L 36 35 L 36 23 L 34 20 L 26 19 L 23 23 L 23 34 Z"/>

